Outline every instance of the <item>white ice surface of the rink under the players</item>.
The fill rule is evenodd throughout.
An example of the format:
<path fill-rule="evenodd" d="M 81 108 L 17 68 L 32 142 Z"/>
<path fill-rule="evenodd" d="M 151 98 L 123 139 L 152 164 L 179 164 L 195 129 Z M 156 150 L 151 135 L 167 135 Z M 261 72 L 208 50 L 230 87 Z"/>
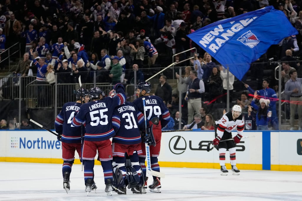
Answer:
<path fill-rule="evenodd" d="M 73 165 L 70 191 L 63 189 L 62 165 L 0 162 L 1 200 L 121 200 L 121 201 L 226 201 L 302 200 L 302 173 L 291 171 L 241 170 L 240 175 L 221 176 L 219 169 L 161 168 L 162 193 L 127 195 L 104 192 L 101 165 L 95 165 L 97 192 L 87 197 L 80 165 Z M 152 177 L 149 176 L 148 185 Z"/>

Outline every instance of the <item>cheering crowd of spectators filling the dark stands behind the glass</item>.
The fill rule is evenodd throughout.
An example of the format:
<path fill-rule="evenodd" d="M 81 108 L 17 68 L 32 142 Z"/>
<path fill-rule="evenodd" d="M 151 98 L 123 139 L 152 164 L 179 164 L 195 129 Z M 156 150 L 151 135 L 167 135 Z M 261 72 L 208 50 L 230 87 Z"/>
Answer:
<path fill-rule="evenodd" d="M 262 89 L 263 71 L 271 68 L 267 58 L 284 61 L 282 90 L 292 68 L 298 77 L 302 76 L 296 61 L 302 42 L 299 0 L 3 0 L 0 4 L 0 53 L 21 42 L 24 59 L 15 73 L 23 77 L 37 74 L 38 83 L 53 84 L 54 74 L 58 75 L 59 83 L 76 83 L 80 75 L 82 83 L 92 82 L 94 75 L 98 83 L 133 83 L 133 71 L 137 71 L 138 80 L 143 80 L 146 68 L 168 65 L 173 54 L 196 47 L 197 52 L 178 57 L 182 60 L 195 56 L 192 63 L 187 63 L 193 67 L 186 67 L 182 78 L 176 75 L 182 83 L 179 101 L 186 102 L 190 77 L 195 72 L 204 83 L 204 90 L 197 92 L 202 93 L 202 101 L 226 102 L 226 96 L 221 95 L 228 89 L 230 100 L 236 100 L 238 97 L 232 93 L 237 90 L 233 86 L 235 77 L 230 74 L 227 78 L 226 69 L 187 35 L 217 20 L 268 5 L 283 11 L 299 33 L 271 46 L 251 64 L 252 79 L 258 83 L 253 90 Z M 5 62 L 0 67 L 4 68 Z M 171 90 L 166 93 L 162 89 L 169 76 L 161 77 L 156 94 L 163 94 L 171 106 Z M 270 79 L 271 87 L 275 88 L 274 78 Z M 188 114 L 191 121 L 201 107 L 193 102 L 189 105 L 193 111 Z M 248 112 L 248 105 L 244 110 Z"/>

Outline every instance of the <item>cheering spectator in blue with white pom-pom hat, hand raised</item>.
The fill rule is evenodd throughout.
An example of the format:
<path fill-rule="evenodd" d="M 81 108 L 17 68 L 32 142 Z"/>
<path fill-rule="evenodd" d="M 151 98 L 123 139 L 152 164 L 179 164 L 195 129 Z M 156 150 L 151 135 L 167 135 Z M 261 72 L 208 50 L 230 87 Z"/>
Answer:
<path fill-rule="evenodd" d="M 251 102 L 251 105 L 255 110 L 257 110 L 256 114 L 256 125 L 257 130 L 268 130 L 268 122 L 271 120 L 271 111 L 268 108 L 268 104 L 270 103 L 269 99 L 261 98 L 259 100 L 260 107 L 255 104 L 257 98 L 257 91 L 254 93 L 254 98 Z"/>

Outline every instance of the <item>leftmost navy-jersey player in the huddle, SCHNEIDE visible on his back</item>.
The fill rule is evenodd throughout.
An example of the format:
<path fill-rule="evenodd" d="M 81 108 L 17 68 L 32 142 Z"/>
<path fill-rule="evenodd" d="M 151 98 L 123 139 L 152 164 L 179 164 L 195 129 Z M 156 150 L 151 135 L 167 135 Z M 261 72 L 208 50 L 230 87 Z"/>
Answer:
<path fill-rule="evenodd" d="M 66 190 L 66 193 L 70 190 L 69 176 L 72 164 L 75 160 L 75 151 L 78 152 L 80 160 L 82 161 L 81 132 L 83 134 L 85 133 L 84 127 L 81 131 L 81 127 L 74 127 L 71 122 L 75 112 L 79 111 L 82 105 L 81 102 L 87 103 L 88 101 L 88 90 L 78 89 L 76 92 L 76 102 L 65 103 L 55 121 L 56 132 L 60 135 L 58 140 L 62 142 L 63 188 Z"/>

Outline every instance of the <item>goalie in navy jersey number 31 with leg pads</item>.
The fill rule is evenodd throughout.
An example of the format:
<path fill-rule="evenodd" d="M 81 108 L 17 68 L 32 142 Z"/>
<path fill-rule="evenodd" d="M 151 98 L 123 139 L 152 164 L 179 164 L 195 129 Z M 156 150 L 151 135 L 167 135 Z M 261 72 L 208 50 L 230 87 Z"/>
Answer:
<path fill-rule="evenodd" d="M 115 90 L 109 94 L 110 97 L 115 95 Z M 127 185 L 133 193 L 142 193 L 144 181 L 138 154 L 142 154 L 140 128 L 144 128 L 144 122 L 143 113 L 132 102 L 125 102 L 114 109 L 112 125 L 116 135 L 112 138 L 113 170 L 114 175 L 122 175 L 115 178 L 117 193 L 126 194 Z"/>

